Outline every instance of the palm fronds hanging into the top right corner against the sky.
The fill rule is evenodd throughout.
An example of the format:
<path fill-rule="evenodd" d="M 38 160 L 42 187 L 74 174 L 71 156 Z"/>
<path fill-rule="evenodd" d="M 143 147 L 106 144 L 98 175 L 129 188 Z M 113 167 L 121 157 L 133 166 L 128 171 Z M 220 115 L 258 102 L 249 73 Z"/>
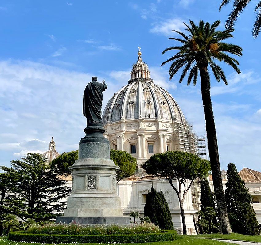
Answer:
<path fill-rule="evenodd" d="M 251 0 L 234 0 L 233 2 L 233 9 L 231 13 L 228 16 L 228 19 L 225 23 L 225 28 L 233 28 L 235 22 L 237 21 L 237 18 L 239 17 L 240 13 L 243 12 L 243 10 L 247 7 L 247 4 Z M 224 5 L 227 5 L 231 0 L 222 0 L 219 11 Z M 261 30 L 261 1 L 259 0 L 257 5 L 255 6 L 255 12 L 256 12 L 256 18 L 255 22 L 253 23 L 252 28 L 252 36 L 256 39 L 259 35 L 259 32 Z"/>

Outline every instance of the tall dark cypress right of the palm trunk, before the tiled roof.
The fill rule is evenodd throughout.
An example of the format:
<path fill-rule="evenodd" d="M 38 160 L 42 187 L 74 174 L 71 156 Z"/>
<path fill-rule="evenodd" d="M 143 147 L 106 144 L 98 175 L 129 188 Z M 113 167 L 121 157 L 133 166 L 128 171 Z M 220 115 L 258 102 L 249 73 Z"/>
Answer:
<path fill-rule="evenodd" d="M 232 231 L 245 235 L 260 234 L 252 196 L 233 163 L 228 164 L 225 198 Z"/>

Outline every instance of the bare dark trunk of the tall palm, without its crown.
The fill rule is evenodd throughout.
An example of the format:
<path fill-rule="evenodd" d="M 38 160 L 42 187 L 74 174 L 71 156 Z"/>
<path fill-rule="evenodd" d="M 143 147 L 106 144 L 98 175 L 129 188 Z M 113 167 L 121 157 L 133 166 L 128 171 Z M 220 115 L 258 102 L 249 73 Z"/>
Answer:
<path fill-rule="evenodd" d="M 217 208 L 218 208 L 218 213 L 220 218 L 220 228 L 223 234 L 229 234 L 232 232 L 232 230 L 229 224 L 227 206 L 226 206 L 225 195 L 224 195 L 224 190 L 222 185 L 217 138 L 216 138 L 216 127 L 215 127 L 212 103 L 210 98 L 210 81 L 208 77 L 207 66 L 200 67 L 199 71 L 200 71 L 200 80 L 201 80 L 201 95 L 202 95 L 205 121 L 206 121 L 206 131 L 208 137 L 210 166 L 212 171 Z"/>

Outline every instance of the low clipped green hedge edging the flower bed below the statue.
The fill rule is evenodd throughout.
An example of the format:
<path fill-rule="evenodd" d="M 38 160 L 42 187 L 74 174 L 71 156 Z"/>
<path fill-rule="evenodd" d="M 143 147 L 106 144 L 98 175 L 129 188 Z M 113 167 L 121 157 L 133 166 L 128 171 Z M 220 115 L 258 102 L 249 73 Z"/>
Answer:
<path fill-rule="evenodd" d="M 176 240 L 177 232 L 162 230 L 161 233 L 141 233 L 130 235 L 57 235 L 30 234 L 24 231 L 9 232 L 8 239 L 16 242 L 37 243 L 146 243 Z"/>

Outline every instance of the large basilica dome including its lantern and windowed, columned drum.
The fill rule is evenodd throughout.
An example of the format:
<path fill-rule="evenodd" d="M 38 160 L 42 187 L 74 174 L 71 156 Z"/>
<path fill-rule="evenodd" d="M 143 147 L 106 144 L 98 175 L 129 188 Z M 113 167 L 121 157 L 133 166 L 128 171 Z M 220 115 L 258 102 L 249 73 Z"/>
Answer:
<path fill-rule="evenodd" d="M 198 155 L 197 137 L 173 96 L 150 77 L 141 52 L 132 65 L 128 84 L 107 103 L 102 116 L 111 149 L 137 158 L 135 175 L 145 173 L 142 164 L 155 153 L 180 150 Z"/>

